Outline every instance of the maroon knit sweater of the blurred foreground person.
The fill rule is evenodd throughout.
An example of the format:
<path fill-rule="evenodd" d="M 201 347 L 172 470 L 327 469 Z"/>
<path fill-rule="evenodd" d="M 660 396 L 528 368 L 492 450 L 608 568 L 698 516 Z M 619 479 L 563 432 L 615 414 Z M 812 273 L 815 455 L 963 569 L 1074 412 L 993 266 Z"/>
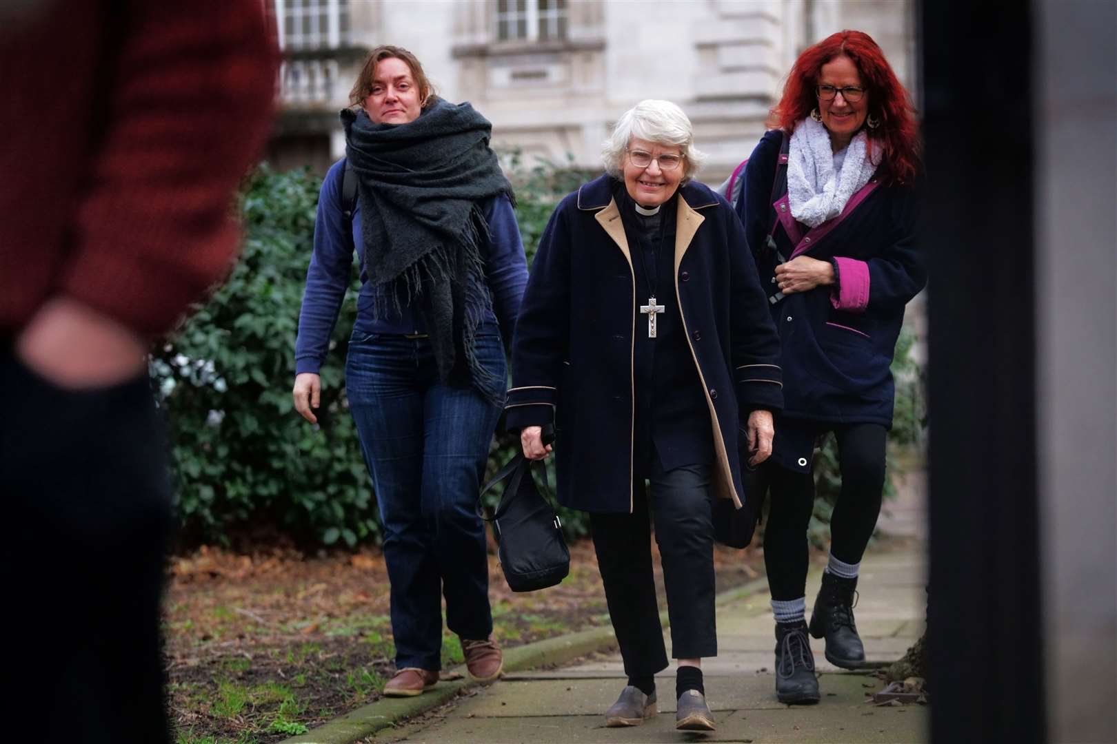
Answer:
<path fill-rule="evenodd" d="M 261 0 L 0 11 L 0 338 L 52 296 L 145 335 L 225 276 L 267 134 Z"/>

